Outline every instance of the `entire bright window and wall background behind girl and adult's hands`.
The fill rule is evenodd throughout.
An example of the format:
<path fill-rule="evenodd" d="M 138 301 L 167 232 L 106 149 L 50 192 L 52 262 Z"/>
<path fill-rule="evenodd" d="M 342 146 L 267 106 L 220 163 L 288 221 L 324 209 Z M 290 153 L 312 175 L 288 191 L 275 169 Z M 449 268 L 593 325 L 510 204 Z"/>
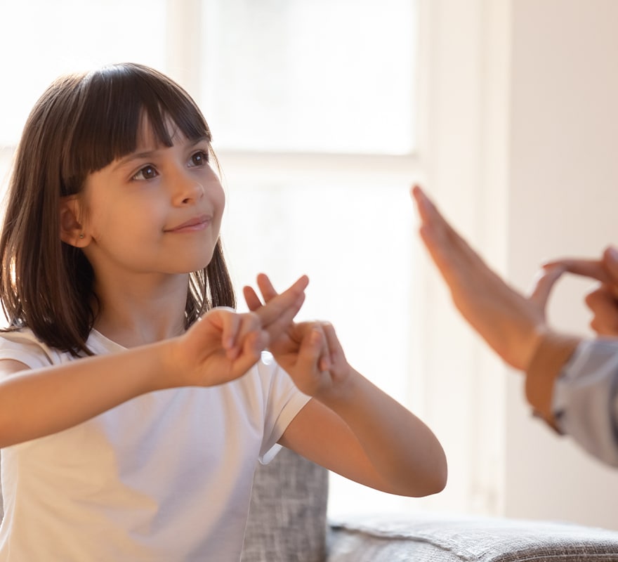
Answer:
<path fill-rule="evenodd" d="M 0 178 L 61 72 L 152 65 L 201 105 L 237 287 L 311 278 L 306 318 L 438 434 L 449 483 L 401 499 L 333 477 L 331 514 L 442 510 L 618 528 L 618 473 L 532 420 L 521 377 L 454 313 L 420 247 L 421 181 L 516 287 L 615 240 L 612 0 L 0 0 Z M 551 304 L 586 333 L 567 280 Z"/>

